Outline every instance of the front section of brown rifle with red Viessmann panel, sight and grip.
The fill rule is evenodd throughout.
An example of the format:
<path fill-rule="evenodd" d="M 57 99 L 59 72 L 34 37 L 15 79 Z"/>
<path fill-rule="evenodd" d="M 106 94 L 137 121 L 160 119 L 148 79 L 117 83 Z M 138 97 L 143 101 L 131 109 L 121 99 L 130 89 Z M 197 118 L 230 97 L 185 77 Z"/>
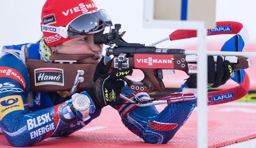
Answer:
<path fill-rule="evenodd" d="M 164 91 L 162 69 L 182 70 L 189 76 L 196 75 L 198 69 L 196 51 L 161 49 L 155 46 L 145 46 L 145 44 L 127 43 L 122 38 L 125 32 L 119 34 L 120 28 L 121 24 L 115 24 L 115 28 L 109 33 L 95 34 L 94 42 L 110 46 L 106 48 L 104 57 L 105 73 L 128 67 L 140 69 L 144 73 L 144 79 L 141 81 L 133 81 L 129 77 L 123 78 L 132 90 L 146 93 Z M 113 44 L 115 44 L 114 47 Z M 251 66 L 249 57 L 252 57 L 252 53 L 225 51 L 209 53 L 223 55 L 225 60 L 230 61 L 233 70 L 246 69 Z M 108 62 L 111 55 L 114 57 Z"/>

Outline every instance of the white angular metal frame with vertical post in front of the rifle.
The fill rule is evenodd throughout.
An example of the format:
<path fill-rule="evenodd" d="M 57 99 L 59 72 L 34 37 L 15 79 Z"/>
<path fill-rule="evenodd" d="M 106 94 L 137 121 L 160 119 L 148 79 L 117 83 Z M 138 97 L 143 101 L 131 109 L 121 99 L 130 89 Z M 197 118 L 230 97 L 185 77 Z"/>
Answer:
<path fill-rule="evenodd" d="M 147 2 L 145 2 L 147 1 Z M 199 148 L 207 148 L 207 23 L 204 21 L 155 20 L 153 19 L 154 0 L 144 0 L 144 27 L 179 28 L 197 30 L 198 67 L 197 74 L 197 135 Z M 199 79 L 200 78 L 200 79 Z"/>

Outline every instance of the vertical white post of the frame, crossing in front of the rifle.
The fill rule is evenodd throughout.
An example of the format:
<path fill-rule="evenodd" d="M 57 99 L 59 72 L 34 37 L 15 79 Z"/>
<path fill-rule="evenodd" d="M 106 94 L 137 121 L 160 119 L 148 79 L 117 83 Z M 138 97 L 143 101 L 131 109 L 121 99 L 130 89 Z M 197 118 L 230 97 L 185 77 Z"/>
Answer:
<path fill-rule="evenodd" d="M 207 45 L 206 45 L 207 27 L 206 22 L 200 22 L 197 29 L 198 37 L 198 67 L 197 73 L 197 137 L 198 148 L 207 148 Z"/>

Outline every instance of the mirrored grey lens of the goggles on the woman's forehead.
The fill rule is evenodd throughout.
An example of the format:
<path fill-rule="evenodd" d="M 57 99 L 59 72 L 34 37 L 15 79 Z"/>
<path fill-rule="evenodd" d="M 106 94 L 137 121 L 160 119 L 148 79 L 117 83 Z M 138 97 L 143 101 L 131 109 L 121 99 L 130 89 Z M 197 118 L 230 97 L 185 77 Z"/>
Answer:
<path fill-rule="evenodd" d="M 85 35 L 88 33 L 97 33 L 102 31 L 105 26 L 112 26 L 111 19 L 105 10 L 85 14 L 74 19 L 68 26 L 68 35 L 71 38 Z"/>

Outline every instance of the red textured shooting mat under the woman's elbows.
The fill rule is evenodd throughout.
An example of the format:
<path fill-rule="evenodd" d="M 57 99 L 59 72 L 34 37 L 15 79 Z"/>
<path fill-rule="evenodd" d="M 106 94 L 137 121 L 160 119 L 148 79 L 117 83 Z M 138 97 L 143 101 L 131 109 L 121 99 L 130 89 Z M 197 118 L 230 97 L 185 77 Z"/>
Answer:
<path fill-rule="evenodd" d="M 165 105 L 158 105 L 162 110 Z M 256 103 L 226 103 L 208 106 L 208 146 L 222 147 L 256 138 Z M 0 134 L 0 147 L 11 147 Z M 197 108 L 168 144 L 144 143 L 124 127 L 114 109 L 106 107 L 100 117 L 80 131 L 48 138 L 34 147 L 197 147 Z"/>

